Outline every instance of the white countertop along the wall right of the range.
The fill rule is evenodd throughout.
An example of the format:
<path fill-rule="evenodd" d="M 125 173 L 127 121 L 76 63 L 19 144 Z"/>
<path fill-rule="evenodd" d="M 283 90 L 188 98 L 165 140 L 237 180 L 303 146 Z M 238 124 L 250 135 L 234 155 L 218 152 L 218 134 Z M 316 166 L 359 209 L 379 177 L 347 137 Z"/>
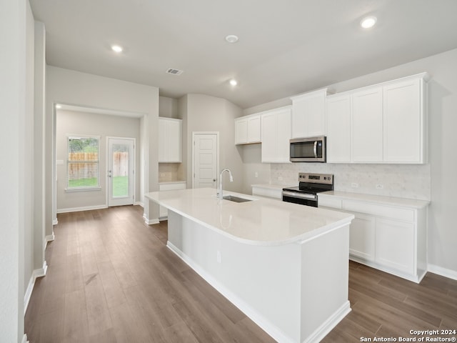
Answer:
<path fill-rule="evenodd" d="M 409 207 L 413 209 L 422 209 L 428 206 L 430 202 L 426 200 L 417 199 L 406 199 L 397 197 L 385 197 L 381 195 L 351 193 L 351 192 L 340 192 L 340 191 L 328 191 L 318 194 L 318 197 L 337 197 L 340 199 L 355 200 L 361 202 L 371 202 L 373 204 L 383 204 L 391 206 Z"/>

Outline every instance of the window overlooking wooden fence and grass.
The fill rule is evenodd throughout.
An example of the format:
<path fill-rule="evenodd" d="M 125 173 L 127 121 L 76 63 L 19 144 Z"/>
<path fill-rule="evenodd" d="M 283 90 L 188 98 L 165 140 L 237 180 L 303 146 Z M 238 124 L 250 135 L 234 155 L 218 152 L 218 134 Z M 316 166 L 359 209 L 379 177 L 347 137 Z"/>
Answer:
<path fill-rule="evenodd" d="M 99 189 L 99 137 L 67 137 L 66 190 Z"/>

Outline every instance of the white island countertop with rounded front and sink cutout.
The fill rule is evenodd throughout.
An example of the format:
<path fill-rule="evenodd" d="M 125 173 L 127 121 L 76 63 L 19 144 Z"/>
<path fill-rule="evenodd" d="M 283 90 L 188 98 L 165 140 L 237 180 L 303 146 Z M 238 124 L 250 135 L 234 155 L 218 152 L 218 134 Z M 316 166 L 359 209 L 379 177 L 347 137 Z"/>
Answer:
<path fill-rule="evenodd" d="M 238 242 L 281 245 L 303 242 L 348 224 L 352 214 L 224 192 L 251 202 L 219 201 L 216 189 L 151 192 L 146 198 Z"/>

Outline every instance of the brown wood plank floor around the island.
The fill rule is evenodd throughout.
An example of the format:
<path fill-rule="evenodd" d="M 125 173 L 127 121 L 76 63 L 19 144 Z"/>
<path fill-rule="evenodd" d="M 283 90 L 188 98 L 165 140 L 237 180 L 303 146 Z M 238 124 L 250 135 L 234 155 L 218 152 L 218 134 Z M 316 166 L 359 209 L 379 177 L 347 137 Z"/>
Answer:
<path fill-rule="evenodd" d="M 166 248 L 166 222 L 148 226 L 142 212 L 59 214 L 26 312 L 29 342 L 275 342 Z M 457 281 L 349 268 L 352 311 L 322 342 L 457 329 Z"/>

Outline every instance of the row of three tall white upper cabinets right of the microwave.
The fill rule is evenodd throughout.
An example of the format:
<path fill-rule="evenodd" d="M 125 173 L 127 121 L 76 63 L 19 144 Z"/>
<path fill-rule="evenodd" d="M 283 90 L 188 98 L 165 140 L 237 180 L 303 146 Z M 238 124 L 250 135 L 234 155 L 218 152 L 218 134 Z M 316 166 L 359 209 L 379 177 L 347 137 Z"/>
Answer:
<path fill-rule="evenodd" d="M 426 73 L 326 99 L 329 163 L 426 163 Z"/>

